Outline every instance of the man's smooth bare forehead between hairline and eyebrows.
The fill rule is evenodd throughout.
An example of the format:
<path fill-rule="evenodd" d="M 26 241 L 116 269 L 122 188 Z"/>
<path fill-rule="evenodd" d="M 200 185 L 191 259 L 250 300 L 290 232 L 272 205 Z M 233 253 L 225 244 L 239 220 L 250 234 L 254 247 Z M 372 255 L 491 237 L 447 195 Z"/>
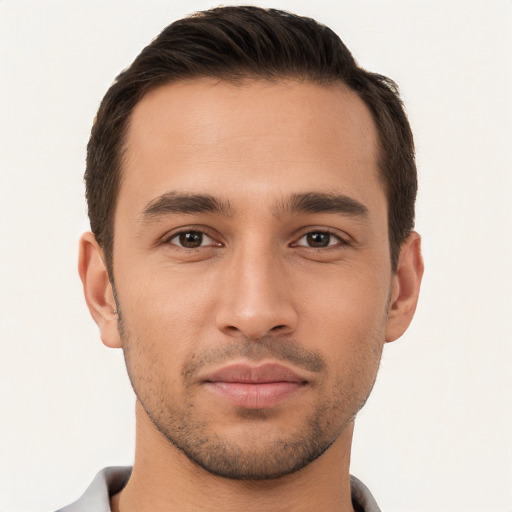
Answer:
<path fill-rule="evenodd" d="M 383 195 L 377 146 L 368 108 L 340 83 L 167 84 L 132 113 L 119 200 L 147 203 L 174 190 L 228 198 L 315 190 L 364 201 Z"/>

